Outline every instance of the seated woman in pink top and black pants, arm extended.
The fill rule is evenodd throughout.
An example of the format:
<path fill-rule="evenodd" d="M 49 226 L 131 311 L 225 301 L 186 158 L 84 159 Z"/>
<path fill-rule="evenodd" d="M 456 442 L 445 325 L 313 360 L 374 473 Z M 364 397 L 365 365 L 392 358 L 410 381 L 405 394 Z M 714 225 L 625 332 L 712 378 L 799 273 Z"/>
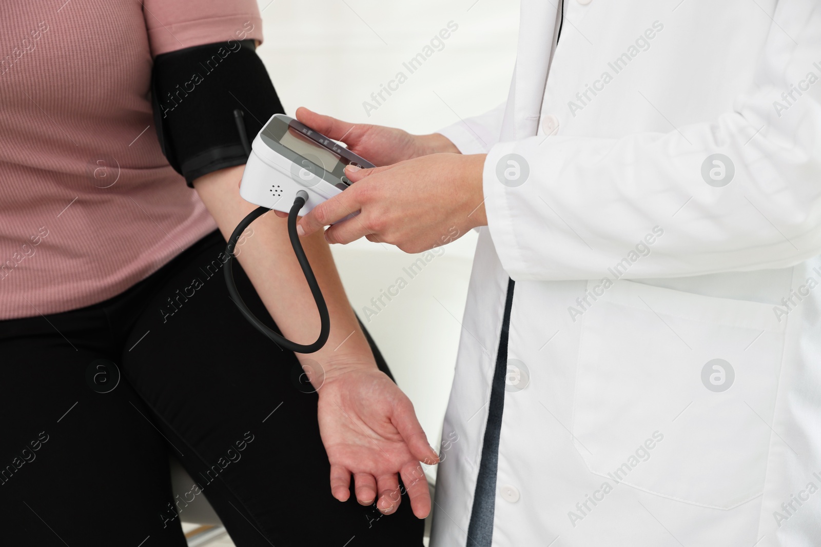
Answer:
<path fill-rule="evenodd" d="M 225 238 L 254 208 L 238 193 L 244 159 L 179 163 L 221 111 L 181 129 L 169 109 L 227 90 L 233 99 L 214 99 L 227 116 L 260 105 L 239 115 L 250 138 L 280 112 L 269 83 L 260 95 L 264 85 L 227 80 L 262 39 L 255 2 L 12 0 L 0 11 L 3 536 L 179 547 L 180 518 L 205 495 L 236 545 L 420 545 L 420 460 L 437 457 L 327 244 L 304 242 L 330 337 L 295 356 L 245 321 L 219 275 Z M 159 70 L 208 44 L 218 57 L 204 57 L 199 79 Z M 159 130 L 154 62 L 155 91 L 181 89 L 172 103 L 154 97 L 154 119 L 172 120 Z M 255 314 L 314 340 L 319 315 L 285 221 L 256 221 L 236 254 Z M 167 454 L 195 480 L 176 498 Z"/>

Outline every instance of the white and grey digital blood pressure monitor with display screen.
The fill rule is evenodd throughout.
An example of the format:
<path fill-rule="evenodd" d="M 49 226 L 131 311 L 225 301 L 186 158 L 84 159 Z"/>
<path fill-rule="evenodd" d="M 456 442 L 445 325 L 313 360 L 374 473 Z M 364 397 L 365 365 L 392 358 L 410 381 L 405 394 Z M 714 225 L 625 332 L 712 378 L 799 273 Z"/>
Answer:
<path fill-rule="evenodd" d="M 374 167 L 300 121 L 275 114 L 251 145 L 240 195 L 255 205 L 289 212 L 296 193 L 305 190 L 308 198 L 299 212 L 305 215 L 351 185 L 346 165 Z"/>

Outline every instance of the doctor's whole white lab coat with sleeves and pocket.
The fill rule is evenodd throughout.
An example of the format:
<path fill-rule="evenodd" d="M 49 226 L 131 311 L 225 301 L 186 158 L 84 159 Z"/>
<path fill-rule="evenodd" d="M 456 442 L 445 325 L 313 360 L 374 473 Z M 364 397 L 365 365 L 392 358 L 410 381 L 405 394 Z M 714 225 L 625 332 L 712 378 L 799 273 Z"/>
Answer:
<path fill-rule="evenodd" d="M 555 46 L 560 4 L 442 131 L 488 227 L 431 545 L 466 545 L 508 276 L 493 545 L 821 545 L 821 2 L 565 0 Z"/>

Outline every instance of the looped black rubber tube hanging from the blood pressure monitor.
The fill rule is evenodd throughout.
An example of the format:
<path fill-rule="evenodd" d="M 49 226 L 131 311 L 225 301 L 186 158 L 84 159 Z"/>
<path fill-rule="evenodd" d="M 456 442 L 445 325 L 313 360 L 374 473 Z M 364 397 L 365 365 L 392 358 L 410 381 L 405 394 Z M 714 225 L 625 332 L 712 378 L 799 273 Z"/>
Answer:
<path fill-rule="evenodd" d="M 247 217 L 243 218 L 238 226 L 236 226 L 231 238 L 228 239 L 228 246 L 226 248 L 228 260 L 225 262 L 225 267 L 223 267 L 223 270 L 225 271 L 225 284 L 228 288 L 228 294 L 236 304 L 236 307 L 240 308 L 240 311 L 243 315 L 245 315 L 245 318 L 250 322 L 250 324 L 255 326 L 256 330 L 259 330 L 259 332 L 268 336 L 268 338 L 282 346 L 284 349 L 289 349 L 296 353 L 314 353 L 319 351 L 319 349 L 322 349 L 325 342 L 328 341 L 328 334 L 331 331 L 331 318 L 328 315 L 328 305 L 325 304 L 322 291 L 319 290 L 319 283 L 316 282 L 314 271 L 311 270 L 308 258 L 305 256 L 305 251 L 302 249 L 300 236 L 296 233 L 296 216 L 299 214 L 300 209 L 305 205 L 305 197 L 300 194 L 306 193 L 300 190 L 294 200 L 293 206 L 291 206 L 291 211 L 288 212 L 288 237 L 291 239 L 291 247 L 294 248 L 296 259 L 300 262 L 302 273 L 305 274 L 305 280 L 308 281 L 310 292 L 314 295 L 314 302 L 316 303 L 316 308 L 319 311 L 319 321 L 321 323 L 321 326 L 319 327 L 319 338 L 317 338 L 313 344 L 296 344 L 296 342 L 292 342 L 279 333 L 269 329 L 268 326 L 265 326 L 262 321 L 259 321 L 259 319 L 251 313 L 248 306 L 245 305 L 245 301 L 240 296 L 240 293 L 236 290 L 232 267 L 233 260 L 236 258 L 234 257 L 234 247 L 236 246 L 236 242 L 240 239 L 242 232 L 245 231 L 245 228 L 250 226 L 251 222 L 270 211 L 268 207 L 257 207 L 251 211 Z"/>

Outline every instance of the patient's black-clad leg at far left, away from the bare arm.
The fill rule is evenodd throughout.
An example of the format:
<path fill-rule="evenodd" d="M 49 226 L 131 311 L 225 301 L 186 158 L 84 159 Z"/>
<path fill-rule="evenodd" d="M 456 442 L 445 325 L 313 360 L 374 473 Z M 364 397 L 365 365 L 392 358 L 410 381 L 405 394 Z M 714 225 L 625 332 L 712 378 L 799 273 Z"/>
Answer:
<path fill-rule="evenodd" d="M 0 321 L 8 545 L 186 545 L 180 526 L 163 522 L 172 503 L 165 440 L 117 381 L 101 314 Z"/>

